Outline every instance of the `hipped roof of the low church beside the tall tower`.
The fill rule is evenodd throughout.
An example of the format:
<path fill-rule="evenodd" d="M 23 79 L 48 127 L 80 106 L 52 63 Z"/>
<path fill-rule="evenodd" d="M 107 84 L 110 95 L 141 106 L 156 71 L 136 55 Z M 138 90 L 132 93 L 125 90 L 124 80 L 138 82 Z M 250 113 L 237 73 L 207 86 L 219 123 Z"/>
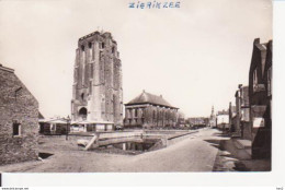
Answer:
<path fill-rule="evenodd" d="M 161 95 L 157 96 L 157 95 L 147 93 L 145 91 L 125 105 L 138 105 L 138 104 L 152 104 L 152 105 L 158 105 L 158 106 L 176 108 L 176 107 L 171 106 L 166 99 L 163 99 L 163 97 Z"/>

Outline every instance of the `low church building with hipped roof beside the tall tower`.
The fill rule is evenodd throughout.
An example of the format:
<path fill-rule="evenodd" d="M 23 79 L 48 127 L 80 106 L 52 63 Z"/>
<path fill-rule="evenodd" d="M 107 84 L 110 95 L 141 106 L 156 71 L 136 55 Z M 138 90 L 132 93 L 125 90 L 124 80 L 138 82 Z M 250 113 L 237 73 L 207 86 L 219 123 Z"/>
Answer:
<path fill-rule="evenodd" d="M 124 128 L 176 127 L 178 109 L 162 96 L 142 92 L 125 104 Z"/>

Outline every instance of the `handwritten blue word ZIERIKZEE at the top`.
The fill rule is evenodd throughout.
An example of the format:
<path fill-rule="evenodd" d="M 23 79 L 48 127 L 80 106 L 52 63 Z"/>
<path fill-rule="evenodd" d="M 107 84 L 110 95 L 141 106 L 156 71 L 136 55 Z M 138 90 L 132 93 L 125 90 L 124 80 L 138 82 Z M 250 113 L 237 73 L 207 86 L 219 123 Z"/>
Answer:
<path fill-rule="evenodd" d="M 147 1 L 147 2 L 129 2 L 128 8 L 130 9 L 175 9 L 180 8 L 180 1 Z"/>

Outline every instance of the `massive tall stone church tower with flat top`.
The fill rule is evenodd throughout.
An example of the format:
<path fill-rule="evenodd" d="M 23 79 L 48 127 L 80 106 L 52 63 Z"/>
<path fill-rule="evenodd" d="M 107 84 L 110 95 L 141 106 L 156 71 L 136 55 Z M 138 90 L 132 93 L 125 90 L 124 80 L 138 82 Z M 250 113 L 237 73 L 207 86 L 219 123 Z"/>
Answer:
<path fill-rule="evenodd" d="M 71 119 L 123 123 L 122 64 L 111 33 L 94 32 L 78 40 Z"/>

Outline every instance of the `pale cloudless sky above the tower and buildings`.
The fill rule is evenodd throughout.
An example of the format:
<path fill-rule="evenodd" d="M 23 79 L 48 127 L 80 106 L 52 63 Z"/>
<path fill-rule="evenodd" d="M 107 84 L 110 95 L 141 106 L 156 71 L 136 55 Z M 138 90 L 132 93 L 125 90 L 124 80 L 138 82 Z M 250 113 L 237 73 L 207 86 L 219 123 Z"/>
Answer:
<path fill-rule="evenodd" d="M 238 84 L 248 84 L 253 39 L 272 39 L 271 0 L 180 0 L 179 9 L 142 10 L 129 2 L 2 0 L 0 63 L 15 70 L 45 117 L 66 117 L 78 39 L 111 32 L 125 104 L 145 90 L 185 117 L 207 117 L 212 106 L 235 104 Z"/>

